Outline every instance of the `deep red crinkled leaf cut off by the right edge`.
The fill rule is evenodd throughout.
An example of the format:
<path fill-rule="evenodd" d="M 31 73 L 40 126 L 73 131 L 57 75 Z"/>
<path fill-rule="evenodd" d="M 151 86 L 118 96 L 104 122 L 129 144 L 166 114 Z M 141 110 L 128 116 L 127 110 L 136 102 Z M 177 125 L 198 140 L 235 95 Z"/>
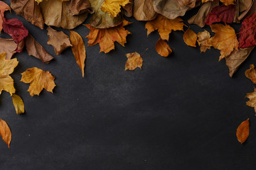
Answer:
<path fill-rule="evenodd" d="M 239 30 L 239 48 L 256 45 L 256 13 L 245 18 Z"/>

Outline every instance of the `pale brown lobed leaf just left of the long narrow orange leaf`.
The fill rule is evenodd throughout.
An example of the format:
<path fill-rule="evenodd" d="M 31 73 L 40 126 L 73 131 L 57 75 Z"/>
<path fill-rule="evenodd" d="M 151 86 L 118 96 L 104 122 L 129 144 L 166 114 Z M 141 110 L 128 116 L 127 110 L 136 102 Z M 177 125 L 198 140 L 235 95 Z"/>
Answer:
<path fill-rule="evenodd" d="M 65 35 L 63 31 L 53 30 L 53 28 L 50 28 L 50 26 L 48 26 L 47 30 L 47 35 L 49 36 L 47 44 L 53 45 L 56 55 L 60 55 L 60 53 L 66 48 L 72 47 L 70 44 L 70 38 L 68 35 Z"/>

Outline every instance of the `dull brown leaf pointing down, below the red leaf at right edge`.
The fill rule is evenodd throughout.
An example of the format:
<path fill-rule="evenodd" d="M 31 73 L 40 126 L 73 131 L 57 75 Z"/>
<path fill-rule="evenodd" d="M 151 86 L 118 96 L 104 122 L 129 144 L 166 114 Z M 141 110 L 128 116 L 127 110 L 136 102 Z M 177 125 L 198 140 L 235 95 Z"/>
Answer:
<path fill-rule="evenodd" d="M 238 67 L 244 62 L 247 57 L 252 52 L 254 47 L 240 48 L 238 50 L 234 50 L 228 57 L 225 57 L 226 65 L 230 70 L 230 77 L 233 77 L 233 74 L 237 72 Z"/>

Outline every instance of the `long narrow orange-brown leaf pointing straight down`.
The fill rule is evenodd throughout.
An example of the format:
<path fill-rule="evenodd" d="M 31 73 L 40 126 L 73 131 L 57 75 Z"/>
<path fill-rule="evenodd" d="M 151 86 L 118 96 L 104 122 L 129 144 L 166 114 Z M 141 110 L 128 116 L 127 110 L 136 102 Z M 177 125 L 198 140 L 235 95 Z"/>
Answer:
<path fill-rule="evenodd" d="M 85 44 L 82 40 L 82 37 L 73 30 L 70 30 L 70 41 L 73 45 L 72 52 L 75 56 L 75 61 L 78 63 L 82 71 L 82 77 L 84 77 L 85 72 Z"/>

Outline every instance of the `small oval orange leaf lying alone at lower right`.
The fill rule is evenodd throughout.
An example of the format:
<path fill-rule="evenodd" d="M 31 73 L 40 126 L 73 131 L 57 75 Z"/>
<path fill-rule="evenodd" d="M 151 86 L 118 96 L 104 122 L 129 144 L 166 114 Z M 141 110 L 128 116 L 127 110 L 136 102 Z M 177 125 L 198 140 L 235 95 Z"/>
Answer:
<path fill-rule="evenodd" d="M 249 118 L 245 121 L 243 121 L 237 129 L 237 137 L 238 141 L 242 144 L 244 143 L 247 138 L 249 137 L 249 131 L 250 131 L 250 123 L 249 123 Z"/>

